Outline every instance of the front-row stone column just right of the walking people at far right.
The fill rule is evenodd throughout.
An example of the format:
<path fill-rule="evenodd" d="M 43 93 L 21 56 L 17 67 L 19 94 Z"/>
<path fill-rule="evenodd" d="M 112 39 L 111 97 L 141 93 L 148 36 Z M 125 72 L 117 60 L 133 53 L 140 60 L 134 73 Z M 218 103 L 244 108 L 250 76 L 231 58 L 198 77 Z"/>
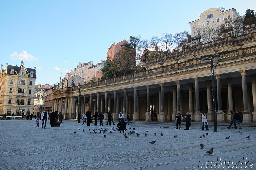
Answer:
<path fill-rule="evenodd" d="M 247 83 L 246 83 L 246 70 L 239 71 L 242 75 L 242 89 L 243 89 L 243 122 L 251 122 L 251 112 L 249 112 L 248 107 L 248 93 L 247 93 Z"/>

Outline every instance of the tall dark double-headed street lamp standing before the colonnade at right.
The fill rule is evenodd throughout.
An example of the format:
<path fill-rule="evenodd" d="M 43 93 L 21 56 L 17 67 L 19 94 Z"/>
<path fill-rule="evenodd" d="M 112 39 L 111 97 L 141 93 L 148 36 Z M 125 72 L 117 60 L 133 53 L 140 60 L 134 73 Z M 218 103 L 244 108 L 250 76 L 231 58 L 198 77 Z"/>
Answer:
<path fill-rule="evenodd" d="M 214 68 L 218 63 L 213 64 L 213 59 L 220 59 L 219 54 L 215 54 L 212 58 L 205 57 L 204 62 L 211 61 L 211 73 L 212 73 L 212 104 L 213 104 L 213 115 L 214 115 L 214 132 L 217 132 L 217 113 L 216 113 L 216 101 L 215 101 L 215 84 L 214 84 Z"/>

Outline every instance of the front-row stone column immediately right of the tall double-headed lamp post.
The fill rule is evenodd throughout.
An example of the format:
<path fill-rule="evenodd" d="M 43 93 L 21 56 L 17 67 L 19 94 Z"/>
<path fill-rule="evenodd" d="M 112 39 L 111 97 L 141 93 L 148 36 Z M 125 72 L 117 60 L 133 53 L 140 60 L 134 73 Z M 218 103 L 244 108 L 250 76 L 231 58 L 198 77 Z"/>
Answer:
<path fill-rule="evenodd" d="M 217 111 L 217 122 L 225 122 L 224 121 L 224 112 L 222 111 L 222 99 L 221 99 L 221 84 L 220 84 L 220 76 L 221 74 L 217 74 L 216 80 L 217 80 L 217 104 L 218 104 L 218 111 Z"/>

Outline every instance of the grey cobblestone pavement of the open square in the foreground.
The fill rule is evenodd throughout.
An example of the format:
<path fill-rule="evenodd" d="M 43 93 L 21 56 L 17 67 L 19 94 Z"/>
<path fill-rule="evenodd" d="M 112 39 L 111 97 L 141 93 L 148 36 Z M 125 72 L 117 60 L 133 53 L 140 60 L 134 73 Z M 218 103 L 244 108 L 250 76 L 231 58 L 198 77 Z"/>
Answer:
<path fill-rule="evenodd" d="M 198 169 L 199 161 L 217 161 L 218 157 L 224 161 L 232 161 L 233 165 L 246 157 L 246 162 L 249 162 L 244 169 L 252 166 L 251 169 L 256 169 L 256 164 L 249 166 L 249 163 L 256 163 L 256 127 L 242 127 L 238 130 L 243 134 L 239 134 L 238 130 L 227 129 L 227 126 L 218 126 L 218 132 L 214 132 L 213 127 L 206 131 L 198 125 L 192 125 L 190 130 L 183 130 L 183 125 L 182 130 L 175 130 L 176 125 L 172 124 L 130 123 L 127 125 L 127 133 L 138 126 L 136 133 L 140 135 L 127 134 L 130 138 L 126 139 L 116 130 L 117 123 L 106 126 L 106 122 L 103 122 L 105 124 L 102 127 L 64 121 L 59 128 L 51 128 L 48 121 L 46 129 L 42 129 L 41 122 L 40 127 L 36 128 L 35 119 L 0 120 L 1 170 L 195 170 Z M 98 130 L 96 134 L 93 133 L 93 129 L 101 127 L 108 129 L 105 133 L 107 137 Z M 199 136 L 206 132 L 209 133 L 208 136 L 200 139 Z M 160 136 L 161 133 L 163 137 Z M 250 138 L 246 139 L 248 135 Z M 228 136 L 229 140 L 224 139 Z M 154 140 L 154 145 L 149 144 Z M 200 148 L 201 143 L 204 144 L 203 149 Z M 210 156 L 205 151 L 212 147 L 214 152 Z"/>

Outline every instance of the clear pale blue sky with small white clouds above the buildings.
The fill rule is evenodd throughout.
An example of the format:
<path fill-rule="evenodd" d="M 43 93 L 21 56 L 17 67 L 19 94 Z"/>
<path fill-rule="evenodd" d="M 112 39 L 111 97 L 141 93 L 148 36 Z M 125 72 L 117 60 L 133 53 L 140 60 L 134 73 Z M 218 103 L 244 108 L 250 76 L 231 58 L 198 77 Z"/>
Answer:
<path fill-rule="evenodd" d="M 106 60 L 113 42 L 190 32 L 209 8 L 243 16 L 256 3 L 238 0 L 1 0 L 0 64 L 36 67 L 36 84 L 56 84 L 81 63 Z"/>

